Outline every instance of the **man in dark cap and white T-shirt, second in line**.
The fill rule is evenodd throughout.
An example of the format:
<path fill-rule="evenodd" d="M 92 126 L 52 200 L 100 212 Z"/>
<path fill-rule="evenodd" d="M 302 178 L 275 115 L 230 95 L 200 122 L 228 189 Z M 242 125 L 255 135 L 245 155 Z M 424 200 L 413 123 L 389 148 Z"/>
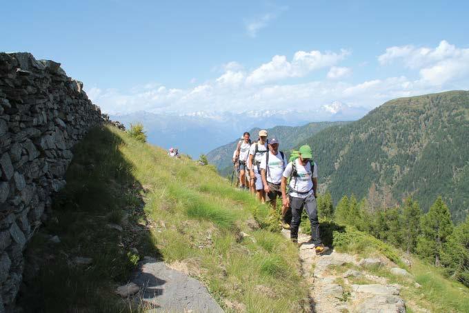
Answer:
<path fill-rule="evenodd" d="M 260 166 L 266 201 L 270 202 L 272 209 L 277 207 L 277 196 L 281 198 L 281 178 L 283 170 L 287 166 L 285 154 L 279 151 L 279 144 L 277 139 L 270 139 L 268 144 L 269 152 L 264 154 Z"/>

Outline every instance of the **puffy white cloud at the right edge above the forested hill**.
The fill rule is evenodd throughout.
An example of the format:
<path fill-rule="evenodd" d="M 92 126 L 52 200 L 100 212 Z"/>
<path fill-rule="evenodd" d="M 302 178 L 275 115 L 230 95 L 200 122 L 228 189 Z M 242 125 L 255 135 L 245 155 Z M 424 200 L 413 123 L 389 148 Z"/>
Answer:
<path fill-rule="evenodd" d="M 406 68 L 419 70 L 421 79 L 431 85 L 443 85 L 469 75 L 469 49 L 457 48 L 445 40 L 436 48 L 387 48 L 378 61 L 381 65 L 401 62 Z"/>

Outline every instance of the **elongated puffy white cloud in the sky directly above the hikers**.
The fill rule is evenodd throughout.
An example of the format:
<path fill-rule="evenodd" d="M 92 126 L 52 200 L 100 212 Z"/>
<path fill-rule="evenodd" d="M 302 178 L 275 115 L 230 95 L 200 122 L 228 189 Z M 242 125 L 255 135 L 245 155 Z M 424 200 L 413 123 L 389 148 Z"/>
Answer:
<path fill-rule="evenodd" d="M 298 51 L 293 56 L 292 61 L 288 61 L 284 55 L 276 55 L 272 57 L 270 62 L 264 63 L 253 70 L 246 79 L 246 83 L 261 84 L 291 77 L 304 77 L 314 70 L 337 64 L 348 54 L 350 54 L 348 50 L 341 50 L 339 53 L 322 53 L 317 50 L 310 52 Z"/>

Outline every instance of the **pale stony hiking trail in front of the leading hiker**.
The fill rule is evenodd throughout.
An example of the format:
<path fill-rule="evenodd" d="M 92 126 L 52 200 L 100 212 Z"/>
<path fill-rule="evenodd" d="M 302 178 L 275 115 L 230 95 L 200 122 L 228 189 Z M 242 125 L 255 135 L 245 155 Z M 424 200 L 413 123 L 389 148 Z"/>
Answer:
<path fill-rule="evenodd" d="M 290 238 L 289 230 L 282 230 L 282 234 Z M 399 296 L 400 285 L 388 284 L 384 277 L 359 270 L 367 266 L 388 266 L 390 261 L 358 259 L 335 250 L 317 255 L 314 245 L 306 244 L 309 239 L 306 234 L 298 236 L 301 274 L 310 287 L 311 312 L 406 312 L 406 305 Z M 367 283 L 354 284 L 352 278 Z"/>

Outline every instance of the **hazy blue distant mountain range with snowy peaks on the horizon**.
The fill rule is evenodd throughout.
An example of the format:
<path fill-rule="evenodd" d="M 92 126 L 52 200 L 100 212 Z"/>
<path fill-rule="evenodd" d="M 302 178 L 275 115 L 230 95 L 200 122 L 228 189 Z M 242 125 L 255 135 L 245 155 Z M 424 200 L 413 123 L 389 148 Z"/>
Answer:
<path fill-rule="evenodd" d="M 148 141 L 163 148 L 179 148 L 193 158 L 241 137 L 243 132 L 257 126 L 272 128 L 276 125 L 299 126 L 311 121 L 345 121 L 363 117 L 368 110 L 340 102 L 323 105 L 319 110 L 255 110 L 244 112 L 190 112 L 185 114 L 134 112 L 111 115 L 126 127 L 130 123 L 143 123 Z"/>

